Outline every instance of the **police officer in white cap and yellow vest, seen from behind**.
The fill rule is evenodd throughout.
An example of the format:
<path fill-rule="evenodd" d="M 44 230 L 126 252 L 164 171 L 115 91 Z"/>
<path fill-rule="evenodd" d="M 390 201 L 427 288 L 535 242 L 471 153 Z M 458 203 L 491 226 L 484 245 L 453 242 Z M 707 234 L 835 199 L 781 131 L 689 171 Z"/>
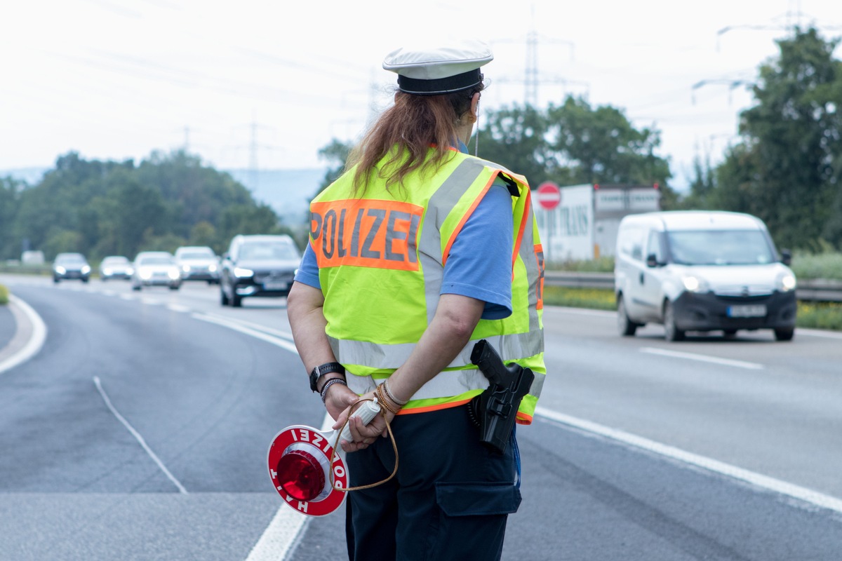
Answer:
<path fill-rule="evenodd" d="M 473 40 L 386 56 L 394 104 L 311 204 L 287 305 L 296 347 L 334 428 L 360 399 L 384 413 L 351 418 L 342 443 L 350 484 L 376 484 L 349 492 L 352 560 L 498 559 L 520 505 L 514 431 L 503 453 L 483 446 L 470 407 L 488 388 L 478 340 L 535 373 L 518 423 L 546 374 L 529 186 L 466 149 L 492 59 Z"/>

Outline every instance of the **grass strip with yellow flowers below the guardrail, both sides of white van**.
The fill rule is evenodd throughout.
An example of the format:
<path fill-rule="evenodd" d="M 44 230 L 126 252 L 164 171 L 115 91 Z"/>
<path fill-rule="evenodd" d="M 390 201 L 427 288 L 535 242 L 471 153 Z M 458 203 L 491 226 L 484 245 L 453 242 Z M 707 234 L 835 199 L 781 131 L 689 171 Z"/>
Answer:
<path fill-rule="evenodd" d="M 616 310 L 614 291 L 610 288 L 544 287 L 544 304 Z M 796 320 L 798 327 L 842 331 L 842 304 L 836 302 L 799 302 Z"/>

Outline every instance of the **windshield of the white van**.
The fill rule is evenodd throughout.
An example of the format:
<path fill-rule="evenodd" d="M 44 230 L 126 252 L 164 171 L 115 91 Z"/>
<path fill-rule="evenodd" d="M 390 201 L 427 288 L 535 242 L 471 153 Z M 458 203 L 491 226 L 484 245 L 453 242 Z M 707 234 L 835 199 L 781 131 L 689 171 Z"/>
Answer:
<path fill-rule="evenodd" d="M 686 230 L 667 233 L 672 262 L 679 265 L 765 265 L 775 252 L 759 230 Z"/>

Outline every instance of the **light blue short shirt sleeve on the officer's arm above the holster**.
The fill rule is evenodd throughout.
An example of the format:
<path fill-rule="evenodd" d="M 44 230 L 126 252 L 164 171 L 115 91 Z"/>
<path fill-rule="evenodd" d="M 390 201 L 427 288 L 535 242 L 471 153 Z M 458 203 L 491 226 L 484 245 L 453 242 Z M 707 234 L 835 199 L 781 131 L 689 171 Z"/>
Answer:
<path fill-rule="evenodd" d="M 440 294 L 482 300 L 483 320 L 511 315 L 513 236 L 509 189 L 495 183 L 450 246 Z"/>

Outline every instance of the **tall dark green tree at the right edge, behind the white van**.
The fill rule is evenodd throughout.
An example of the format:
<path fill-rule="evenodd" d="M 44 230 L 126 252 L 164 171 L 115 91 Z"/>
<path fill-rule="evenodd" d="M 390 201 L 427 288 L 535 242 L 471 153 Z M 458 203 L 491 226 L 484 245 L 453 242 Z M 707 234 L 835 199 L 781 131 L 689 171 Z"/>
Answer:
<path fill-rule="evenodd" d="M 842 67 L 833 52 L 839 40 L 823 40 L 814 28 L 794 29 L 777 41 L 780 56 L 759 68 L 757 103 L 743 111 L 743 145 L 717 173 L 725 209 L 747 210 L 769 225 L 784 246 L 818 246 L 842 231 Z M 836 206 L 834 206 L 836 205 Z"/>

